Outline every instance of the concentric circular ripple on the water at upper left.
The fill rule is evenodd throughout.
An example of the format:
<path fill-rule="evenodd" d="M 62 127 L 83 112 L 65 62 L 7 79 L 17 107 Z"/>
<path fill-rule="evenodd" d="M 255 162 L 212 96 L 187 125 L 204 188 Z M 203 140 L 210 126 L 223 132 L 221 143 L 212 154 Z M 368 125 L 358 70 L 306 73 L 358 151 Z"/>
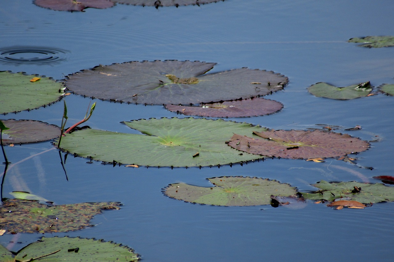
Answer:
<path fill-rule="evenodd" d="M 67 60 L 69 50 L 47 46 L 8 46 L 0 48 L 0 63 L 45 65 Z"/>

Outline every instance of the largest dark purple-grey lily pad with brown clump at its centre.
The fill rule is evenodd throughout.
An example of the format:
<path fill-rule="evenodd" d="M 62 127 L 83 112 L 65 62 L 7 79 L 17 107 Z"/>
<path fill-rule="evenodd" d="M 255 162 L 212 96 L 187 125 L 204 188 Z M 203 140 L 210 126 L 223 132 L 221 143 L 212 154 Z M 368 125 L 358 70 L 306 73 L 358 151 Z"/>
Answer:
<path fill-rule="evenodd" d="M 65 85 L 77 94 L 99 99 L 188 105 L 264 96 L 288 82 L 274 72 L 248 68 L 205 74 L 214 65 L 173 60 L 100 65 L 68 76 Z"/>

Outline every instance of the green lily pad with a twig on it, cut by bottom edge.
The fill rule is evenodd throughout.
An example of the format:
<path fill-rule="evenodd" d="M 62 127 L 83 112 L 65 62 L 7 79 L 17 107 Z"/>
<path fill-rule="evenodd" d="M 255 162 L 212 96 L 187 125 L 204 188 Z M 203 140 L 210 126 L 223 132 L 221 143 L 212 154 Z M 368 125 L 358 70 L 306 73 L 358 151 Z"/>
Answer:
<path fill-rule="evenodd" d="M 37 242 L 23 247 L 18 252 L 10 252 L 0 245 L 2 262 L 28 261 L 138 261 L 138 254 L 130 247 L 87 238 L 42 237 Z"/>

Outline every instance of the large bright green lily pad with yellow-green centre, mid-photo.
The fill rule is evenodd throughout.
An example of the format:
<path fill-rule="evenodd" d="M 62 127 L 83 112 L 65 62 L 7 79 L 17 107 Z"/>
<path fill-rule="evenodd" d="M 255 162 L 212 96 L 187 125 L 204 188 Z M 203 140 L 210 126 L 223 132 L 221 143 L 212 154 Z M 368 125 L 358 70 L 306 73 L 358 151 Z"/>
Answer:
<path fill-rule="evenodd" d="M 160 118 L 124 122 L 143 133 L 86 129 L 61 138 L 60 147 L 93 160 L 141 166 L 215 166 L 259 159 L 229 148 L 233 132 L 251 134 L 265 128 L 247 123 L 203 118 Z"/>

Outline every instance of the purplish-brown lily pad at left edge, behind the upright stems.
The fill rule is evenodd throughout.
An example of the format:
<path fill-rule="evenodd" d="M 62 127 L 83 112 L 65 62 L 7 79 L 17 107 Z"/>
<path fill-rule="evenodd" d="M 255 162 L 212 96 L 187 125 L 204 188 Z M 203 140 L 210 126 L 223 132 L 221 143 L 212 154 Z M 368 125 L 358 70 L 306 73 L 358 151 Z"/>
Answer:
<path fill-rule="evenodd" d="M 60 135 L 60 128 L 34 120 L 2 120 L 9 129 L 3 131 L 3 144 L 23 144 L 50 140 Z"/>

